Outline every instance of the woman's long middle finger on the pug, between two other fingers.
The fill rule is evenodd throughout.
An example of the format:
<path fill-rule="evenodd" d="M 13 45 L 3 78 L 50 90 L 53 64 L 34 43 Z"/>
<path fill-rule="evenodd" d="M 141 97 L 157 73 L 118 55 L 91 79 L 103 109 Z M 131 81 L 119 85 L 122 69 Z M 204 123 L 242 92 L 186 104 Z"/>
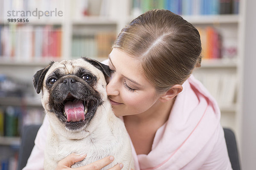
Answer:
<path fill-rule="evenodd" d="M 113 156 L 108 156 L 99 161 L 95 161 L 91 164 L 87 164 L 83 167 L 78 167 L 78 168 L 76 168 L 76 170 L 100 170 L 100 169 L 102 169 L 102 167 L 105 167 L 108 164 L 110 164 L 111 162 L 113 162 L 113 160 L 114 160 Z"/>

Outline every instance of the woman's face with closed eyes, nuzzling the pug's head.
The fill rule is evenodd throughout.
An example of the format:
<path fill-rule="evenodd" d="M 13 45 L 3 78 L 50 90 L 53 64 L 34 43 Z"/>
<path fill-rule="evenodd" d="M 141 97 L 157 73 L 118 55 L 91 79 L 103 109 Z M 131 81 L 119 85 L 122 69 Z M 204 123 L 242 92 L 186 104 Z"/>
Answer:
<path fill-rule="evenodd" d="M 139 60 L 113 48 L 109 67 L 112 73 L 107 94 L 116 116 L 143 113 L 158 101 L 159 96 L 143 74 Z"/>

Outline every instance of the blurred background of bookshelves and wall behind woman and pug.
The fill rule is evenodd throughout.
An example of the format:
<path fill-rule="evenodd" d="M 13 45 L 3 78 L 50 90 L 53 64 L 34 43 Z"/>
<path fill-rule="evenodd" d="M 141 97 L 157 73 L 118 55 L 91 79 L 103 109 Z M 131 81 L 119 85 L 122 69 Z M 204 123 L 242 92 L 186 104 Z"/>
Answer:
<path fill-rule="evenodd" d="M 194 76 L 217 100 L 221 125 L 235 132 L 242 169 L 255 169 L 255 7 L 255 0 L 0 0 L 0 170 L 16 170 L 22 127 L 44 119 L 35 72 L 52 60 L 103 61 L 119 31 L 153 8 L 198 28 L 203 59 Z"/>

